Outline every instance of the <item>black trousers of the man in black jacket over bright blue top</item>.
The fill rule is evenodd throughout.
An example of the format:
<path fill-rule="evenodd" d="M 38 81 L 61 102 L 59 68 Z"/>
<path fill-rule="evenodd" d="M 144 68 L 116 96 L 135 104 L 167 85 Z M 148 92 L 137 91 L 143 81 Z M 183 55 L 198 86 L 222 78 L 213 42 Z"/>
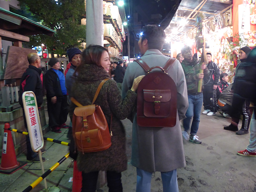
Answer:
<path fill-rule="evenodd" d="M 60 126 L 67 121 L 68 116 L 68 100 L 67 95 L 57 98 L 55 104 L 51 98 L 47 97 L 47 107 L 49 115 L 49 127 L 54 128 Z"/>

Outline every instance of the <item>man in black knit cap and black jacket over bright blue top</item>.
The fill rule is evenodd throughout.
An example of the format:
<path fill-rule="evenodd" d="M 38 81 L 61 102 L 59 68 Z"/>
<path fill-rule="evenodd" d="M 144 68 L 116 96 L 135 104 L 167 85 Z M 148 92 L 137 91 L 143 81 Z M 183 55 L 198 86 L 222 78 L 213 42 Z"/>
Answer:
<path fill-rule="evenodd" d="M 60 128 L 68 128 L 65 124 L 68 116 L 67 89 L 65 76 L 60 70 L 60 62 L 57 58 L 49 61 L 51 68 L 44 76 L 47 107 L 49 114 L 49 127 L 52 132 L 61 133 Z"/>

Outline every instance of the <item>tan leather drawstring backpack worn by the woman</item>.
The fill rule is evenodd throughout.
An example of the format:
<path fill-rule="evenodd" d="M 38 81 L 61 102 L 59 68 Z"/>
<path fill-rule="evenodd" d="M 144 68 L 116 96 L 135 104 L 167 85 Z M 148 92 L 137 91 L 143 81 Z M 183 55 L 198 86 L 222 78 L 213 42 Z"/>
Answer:
<path fill-rule="evenodd" d="M 72 134 L 75 140 L 76 149 L 84 153 L 97 152 L 108 149 L 111 146 L 111 124 L 110 132 L 108 123 L 100 106 L 94 102 L 98 97 L 102 85 L 108 79 L 104 79 L 93 98 L 92 105 L 82 106 L 73 97 L 70 99 L 76 106 L 72 120 Z"/>

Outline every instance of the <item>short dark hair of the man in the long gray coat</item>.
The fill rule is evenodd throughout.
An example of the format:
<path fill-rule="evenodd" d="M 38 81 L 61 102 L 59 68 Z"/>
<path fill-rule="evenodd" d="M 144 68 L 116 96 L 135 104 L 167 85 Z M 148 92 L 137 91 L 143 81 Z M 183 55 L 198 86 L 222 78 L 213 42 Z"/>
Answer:
<path fill-rule="evenodd" d="M 148 40 L 148 49 L 162 51 L 165 39 L 164 29 L 158 25 L 146 25 L 142 28 L 141 40 L 144 39 Z"/>

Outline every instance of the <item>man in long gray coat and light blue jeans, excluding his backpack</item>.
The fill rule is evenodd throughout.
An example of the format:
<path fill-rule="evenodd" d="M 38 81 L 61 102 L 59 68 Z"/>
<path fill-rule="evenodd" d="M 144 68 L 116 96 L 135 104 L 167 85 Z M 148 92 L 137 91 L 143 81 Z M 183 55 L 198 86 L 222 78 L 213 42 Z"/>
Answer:
<path fill-rule="evenodd" d="M 164 67 L 170 59 L 160 51 L 165 39 L 164 30 L 157 25 L 147 25 L 142 29 L 138 42 L 141 59 L 149 67 Z M 185 167 L 185 156 L 180 128 L 180 120 L 186 116 L 188 93 L 185 75 L 178 60 L 174 61 L 167 73 L 177 86 L 177 121 L 174 127 L 140 127 L 137 124 L 136 112 L 133 114 L 132 126 L 132 160 L 137 168 L 137 192 L 150 192 L 153 172 L 160 171 L 164 192 L 178 192 L 176 169 Z M 128 65 L 125 72 L 122 96 L 132 87 L 133 79 L 146 72 L 136 62 Z"/>

